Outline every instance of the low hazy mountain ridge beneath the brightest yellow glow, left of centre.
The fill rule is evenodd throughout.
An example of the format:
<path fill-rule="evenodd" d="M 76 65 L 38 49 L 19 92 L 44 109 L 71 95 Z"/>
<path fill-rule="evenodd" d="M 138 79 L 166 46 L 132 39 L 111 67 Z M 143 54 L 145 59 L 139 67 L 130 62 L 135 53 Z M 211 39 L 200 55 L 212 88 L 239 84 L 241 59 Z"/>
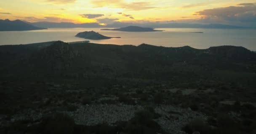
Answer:
<path fill-rule="evenodd" d="M 33 26 L 44 27 L 44 28 L 102 28 L 104 26 L 99 25 L 98 23 L 82 23 L 75 24 L 69 22 L 35 22 L 31 23 Z"/>

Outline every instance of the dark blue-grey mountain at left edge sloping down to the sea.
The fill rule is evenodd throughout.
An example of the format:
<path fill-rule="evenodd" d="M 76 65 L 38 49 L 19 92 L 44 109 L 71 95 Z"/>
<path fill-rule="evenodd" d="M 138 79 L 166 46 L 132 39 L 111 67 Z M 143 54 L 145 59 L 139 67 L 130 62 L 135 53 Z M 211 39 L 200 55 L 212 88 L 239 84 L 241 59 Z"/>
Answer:
<path fill-rule="evenodd" d="M 27 30 L 42 30 L 46 28 L 40 28 L 32 26 L 20 20 L 10 21 L 0 20 L 0 31 L 27 31 Z"/>

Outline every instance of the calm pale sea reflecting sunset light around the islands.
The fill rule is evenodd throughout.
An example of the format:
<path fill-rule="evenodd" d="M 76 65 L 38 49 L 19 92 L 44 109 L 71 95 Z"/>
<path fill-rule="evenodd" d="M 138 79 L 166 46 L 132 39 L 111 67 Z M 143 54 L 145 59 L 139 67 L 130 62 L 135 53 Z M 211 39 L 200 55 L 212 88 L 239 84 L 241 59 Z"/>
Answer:
<path fill-rule="evenodd" d="M 105 36 L 121 37 L 121 39 L 89 40 L 99 44 L 132 44 L 142 43 L 156 46 L 191 46 L 206 49 L 210 46 L 233 45 L 256 50 L 256 29 L 200 29 L 200 28 L 157 28 L 163 32 L 122 32 L 100 31 L 101 28 L 49 28 L 35 31 L 0 32 L 0 45 L 30 44 L 45 41 L 85 41 L 75 37 L 79 32 L 96 31 Z M 204 32 L 204 33 L 190 33 Z"/>

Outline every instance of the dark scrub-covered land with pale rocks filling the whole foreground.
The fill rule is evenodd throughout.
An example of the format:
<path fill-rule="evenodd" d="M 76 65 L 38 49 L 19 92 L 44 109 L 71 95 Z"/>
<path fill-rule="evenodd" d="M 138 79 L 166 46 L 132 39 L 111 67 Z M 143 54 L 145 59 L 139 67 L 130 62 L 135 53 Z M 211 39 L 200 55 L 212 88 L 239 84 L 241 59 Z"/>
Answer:
<path fill-rule="evenodd" d="M 256 53 L 141 44 L 0 46 L 1 134 L 253 134 Z"/>

